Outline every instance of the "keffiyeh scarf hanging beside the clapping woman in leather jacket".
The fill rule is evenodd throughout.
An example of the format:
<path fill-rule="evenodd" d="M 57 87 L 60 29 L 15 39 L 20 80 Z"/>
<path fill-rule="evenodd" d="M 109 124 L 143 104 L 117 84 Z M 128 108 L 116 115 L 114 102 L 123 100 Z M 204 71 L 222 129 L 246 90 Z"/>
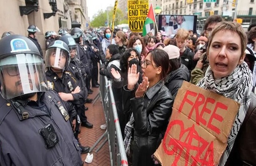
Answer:
<path fill-rule="evenodd" d="M 132 131 L 134 130 L 133 113 L 124 128 L 124 149 L 128 156 L 131 156 Z"/>

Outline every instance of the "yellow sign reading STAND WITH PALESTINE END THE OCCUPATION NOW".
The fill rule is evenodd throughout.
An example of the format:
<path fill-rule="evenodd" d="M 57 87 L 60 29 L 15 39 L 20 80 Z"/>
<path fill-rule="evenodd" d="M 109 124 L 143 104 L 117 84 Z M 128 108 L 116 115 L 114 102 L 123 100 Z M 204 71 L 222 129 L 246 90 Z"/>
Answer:
<path fill-rule="evenodd" d="M 149 12 L 148 0 L 128 0 L 128 22 L 132 32 L 142 32 Z"/>

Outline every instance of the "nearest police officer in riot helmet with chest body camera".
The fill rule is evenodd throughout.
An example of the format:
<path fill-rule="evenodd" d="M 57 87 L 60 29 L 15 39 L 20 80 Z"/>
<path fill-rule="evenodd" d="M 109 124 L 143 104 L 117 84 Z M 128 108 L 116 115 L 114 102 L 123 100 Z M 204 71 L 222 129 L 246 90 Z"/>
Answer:
<path fill-rule="evenodd" d="M 0 40 L 0 83 L 0 165 L 82 166 L 65 103 L 48 90 L 43 57 L 27 37 Z"/>

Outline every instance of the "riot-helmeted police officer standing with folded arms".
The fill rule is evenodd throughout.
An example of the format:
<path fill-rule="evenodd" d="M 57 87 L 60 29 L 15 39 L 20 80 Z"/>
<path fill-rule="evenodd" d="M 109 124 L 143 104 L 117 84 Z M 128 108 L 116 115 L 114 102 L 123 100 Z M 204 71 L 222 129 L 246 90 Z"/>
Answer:
<path fill-rule="evenodd" d="M 62 100 L 72 103 L 75 106 L 76 114 L 69 112 L 71 121 L 79 119 L 79 108 L 84 105 L 86 93 L 72 78 L 71 74 L 65 73 L 70 64 L 70 51 L 63 41 L 53 41 L 45 53 L 45 68 L 48 87 L 56 91 Z M 76 128 L 77 129 L 77 128 Z M 78 140 L 78 131 L 75 132 Z M 81 146 L 81 153 L 87 153 L 89 146 Z"/>

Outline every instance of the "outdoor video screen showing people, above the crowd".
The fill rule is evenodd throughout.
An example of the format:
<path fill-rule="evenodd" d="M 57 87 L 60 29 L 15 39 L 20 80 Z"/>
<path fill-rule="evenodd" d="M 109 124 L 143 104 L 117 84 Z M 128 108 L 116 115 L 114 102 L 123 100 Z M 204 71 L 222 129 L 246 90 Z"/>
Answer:
<path fill-rule="evenodd" d="M 159 15 L 158 30 L 167 37 L 173 37 L 178 29 L 193 30 L 196 33 L 196 15 Z"/>

